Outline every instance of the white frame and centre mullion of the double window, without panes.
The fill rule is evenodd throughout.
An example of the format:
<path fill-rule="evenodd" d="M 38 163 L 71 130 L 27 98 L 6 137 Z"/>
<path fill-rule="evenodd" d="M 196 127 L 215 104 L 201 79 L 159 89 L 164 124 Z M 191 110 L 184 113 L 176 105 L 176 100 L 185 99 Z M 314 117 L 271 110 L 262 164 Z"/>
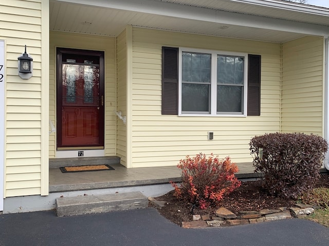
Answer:
<path fill-rule="evenodd" d="M 181 111 L 182 93 L 182 52 L 196 52 L 211 54 L 211 84 L 210 84 L 210 113 L 189 114 Z M 232 55 L 244 57 L 244 85 L 243 85 L 243 113 L 217 114 L 217 55 Z M 247 116 L 247 90 L 248 89 L 248 54 L 206 49 L 179 48 L 178 51 L 178 115 L 179 116 Z"/>

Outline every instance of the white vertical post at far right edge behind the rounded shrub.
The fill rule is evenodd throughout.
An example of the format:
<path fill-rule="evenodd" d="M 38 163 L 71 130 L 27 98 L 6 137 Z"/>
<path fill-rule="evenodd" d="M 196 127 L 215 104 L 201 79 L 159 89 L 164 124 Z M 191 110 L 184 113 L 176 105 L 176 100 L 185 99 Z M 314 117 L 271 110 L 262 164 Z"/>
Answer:
<path fill-rule="evenodd" d="M 324 41 L 324 138 L 329 141 L 329 37 Z M 324 166 L 329 170 L 329 151 L 324 159 Z"/>

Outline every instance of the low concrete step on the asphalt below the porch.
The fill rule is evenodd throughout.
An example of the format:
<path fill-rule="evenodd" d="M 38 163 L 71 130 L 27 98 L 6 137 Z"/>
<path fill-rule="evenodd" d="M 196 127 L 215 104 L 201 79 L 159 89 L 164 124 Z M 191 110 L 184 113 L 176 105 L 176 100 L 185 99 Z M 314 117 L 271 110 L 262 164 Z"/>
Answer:
<path fill-rule="evenodd" d="M 56 198 L 57 216 L 105 213 L 147 208 L 149 200 L 141 192 Z"/>

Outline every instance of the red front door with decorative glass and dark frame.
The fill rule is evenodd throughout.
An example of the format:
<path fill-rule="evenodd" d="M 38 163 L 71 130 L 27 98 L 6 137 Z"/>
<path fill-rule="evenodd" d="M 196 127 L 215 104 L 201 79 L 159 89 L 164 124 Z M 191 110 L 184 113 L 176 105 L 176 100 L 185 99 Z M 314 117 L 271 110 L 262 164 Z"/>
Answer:
<path fill-rule="evenodd" d="M 104 148 L 104 54 L 57 50 L 57 149 Z"/>

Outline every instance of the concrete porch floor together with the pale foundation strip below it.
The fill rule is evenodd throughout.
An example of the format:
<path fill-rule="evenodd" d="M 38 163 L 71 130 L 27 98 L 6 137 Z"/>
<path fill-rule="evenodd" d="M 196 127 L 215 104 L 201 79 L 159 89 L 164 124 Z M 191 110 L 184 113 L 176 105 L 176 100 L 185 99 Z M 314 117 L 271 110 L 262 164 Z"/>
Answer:
<path fill-rule="evenodd" d="M 80 162 L 81 163 L 81 162 Z M 158 197 L 171 191 L 169 181 L 180 181 L 180 170 L 176 167 L 126 169 L 118 163 L 109 164 L 115 170 L 62 173 L 59 167 L 49 169 L 49 194 L 47 196 L 7 197 L 4 214 L 51 210 L 56 208 L 59 197 L 141 192 L 144 196 Z M 259 177 L 253 172 L 252 163 L 237 163 L 240 180 Z M 322 168 L 321 173 L 327 173 Z"/>

